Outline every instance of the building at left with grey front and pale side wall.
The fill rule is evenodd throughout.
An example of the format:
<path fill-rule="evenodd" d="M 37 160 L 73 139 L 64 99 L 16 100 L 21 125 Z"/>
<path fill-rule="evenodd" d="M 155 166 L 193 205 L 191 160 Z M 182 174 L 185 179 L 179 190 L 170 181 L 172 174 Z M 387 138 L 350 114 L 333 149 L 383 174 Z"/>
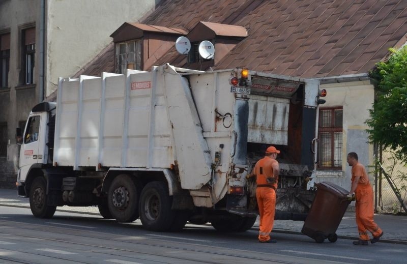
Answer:
<path fill-rule="evenodd" d="M 16 128 L 31 108 L 103 50 L 124 20 L 137 21 L 158 2 L 0 1 L 0 187 L 14 186 Z"/>

